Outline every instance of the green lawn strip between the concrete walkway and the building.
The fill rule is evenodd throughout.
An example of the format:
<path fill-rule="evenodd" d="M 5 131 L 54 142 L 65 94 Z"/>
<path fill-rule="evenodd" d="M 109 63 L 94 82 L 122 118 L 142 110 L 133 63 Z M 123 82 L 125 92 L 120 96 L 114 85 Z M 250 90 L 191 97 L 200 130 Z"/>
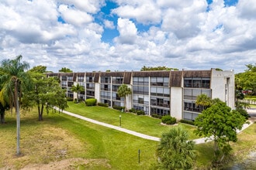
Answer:
<path fill-rule="evenodd" d="M 162 125 L 161 119 L 141 115 L 138 116 L 136 114 L 130 113 L 122 113 L 119 110 L 111 109 L 108 107 L 86 107 L 85 104 L 74 104 L 74 102 L 68 102 L 68 106 L 69 107 L 65 110 L 74 114 L 80 114 L 82 116 L 116 126 L 119 126 L 119 115 L 121 115 L 122 128 L 159 138 L 161 137 L 162 133 L 167 132 L 176 126 Z M 192 133 L 192 130 L 195 128 L 191 125 L 179 123 L 178 126 L 182 126 L 189 132 L 189 139 L 199 138 Z"/>

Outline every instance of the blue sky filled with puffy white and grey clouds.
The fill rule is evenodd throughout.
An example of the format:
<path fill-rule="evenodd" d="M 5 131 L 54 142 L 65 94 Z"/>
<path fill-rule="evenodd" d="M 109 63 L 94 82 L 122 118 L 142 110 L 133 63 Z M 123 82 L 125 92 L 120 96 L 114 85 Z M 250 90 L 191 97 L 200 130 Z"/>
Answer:
<path fill-rule="evenodd" d="M 0 56 L 57 71 L 243 71 L 256 63 L 254 0 L 0 2 Z"/>

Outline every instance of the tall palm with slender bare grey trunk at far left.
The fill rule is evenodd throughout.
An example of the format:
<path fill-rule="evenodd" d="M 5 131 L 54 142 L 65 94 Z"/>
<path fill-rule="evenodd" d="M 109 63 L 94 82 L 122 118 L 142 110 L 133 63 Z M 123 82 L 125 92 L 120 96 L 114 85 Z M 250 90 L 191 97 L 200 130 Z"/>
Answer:
<path fill-rule="evenodd" d="M 9 94 L 9 105 L 16 109 L 16 125 L 17 125 L 17 151 L 19 155 L 19 138 L 20 138 L 20 114 L 19 101 L 22 97 L 22 90 L 28 90 L 30 87 L 29 74 L 25 70 L 29 69 L 29 63 L 22 62 L 22 56 L 16 56 L 16 59 L 2 60 L 0 82 L 2 89 Z"/>

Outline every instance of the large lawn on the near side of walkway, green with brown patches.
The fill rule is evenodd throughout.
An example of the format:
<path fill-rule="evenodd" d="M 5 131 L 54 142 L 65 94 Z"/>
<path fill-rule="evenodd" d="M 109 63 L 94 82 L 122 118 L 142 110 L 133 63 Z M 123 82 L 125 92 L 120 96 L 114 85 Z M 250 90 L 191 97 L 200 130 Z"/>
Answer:
<path fill-rule="evenodd" d="M 0 125 L 0 168 L 16 169 L 83 158 L 91 163 L 78 162 L 71 169 L 149 169 L 150 163 L 155 161 L 156 141 L 137 138 L 65 114 L 50 113 L 43 118 L 43 121 L 37 121 L 35 112 L 22 115 L 22 156 L 17 157 L 16 118 L 14 114 L 6 115 L 6 124 Z"/>

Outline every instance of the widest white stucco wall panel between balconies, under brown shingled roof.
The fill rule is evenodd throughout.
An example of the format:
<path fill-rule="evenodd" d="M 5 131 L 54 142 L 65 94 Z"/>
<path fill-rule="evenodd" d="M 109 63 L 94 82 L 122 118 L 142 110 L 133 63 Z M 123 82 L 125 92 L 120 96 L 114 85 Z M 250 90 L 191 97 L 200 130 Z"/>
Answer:
<path fill-rule="evenodd" d="M 176 117 L 177 120 L 182 119 L 182 88 L 171 87 L 171 117 Z"/>

